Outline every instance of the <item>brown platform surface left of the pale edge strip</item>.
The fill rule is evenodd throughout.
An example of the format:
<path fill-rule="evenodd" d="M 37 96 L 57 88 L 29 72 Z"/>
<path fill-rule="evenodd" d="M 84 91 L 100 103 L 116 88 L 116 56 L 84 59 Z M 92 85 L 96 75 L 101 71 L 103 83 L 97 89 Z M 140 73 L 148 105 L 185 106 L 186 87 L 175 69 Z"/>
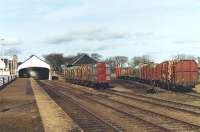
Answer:
<path fill-rule="evenodd" d="M 0 131 L 44 131 L 29 80 L 17 79 L 0 91 Z"/>

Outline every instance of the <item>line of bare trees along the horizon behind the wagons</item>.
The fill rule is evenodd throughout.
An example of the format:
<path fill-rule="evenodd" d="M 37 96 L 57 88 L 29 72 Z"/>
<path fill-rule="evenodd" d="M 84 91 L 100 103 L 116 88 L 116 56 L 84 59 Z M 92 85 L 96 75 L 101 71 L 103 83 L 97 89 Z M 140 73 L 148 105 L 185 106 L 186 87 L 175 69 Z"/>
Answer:
<path fill-rule="evenodd" d="M 82 55 L 87 53 L 78 53 Z M 137 67 L 142 64 L 153 64 L 154 60 L 149 55 L 135 56 L 129 60 L 126 56 L 112 56 L 103 58 L 98 53 L 87 54 L 91 58 L 99 61 L 106 62 L 110 65 L 111 69 L 114 70 L 116 67 Z M 62 53 L 51 53 L 44 55 L 45 60 L 51 65 L 54 70 L 61 71 L 62 67 L 67 63 L 69 58 L 73 58 L 75 55 L 64 56 Z M 178 54 L 172 57 L 172 60 L 196 60 L 200 63 L 200 57 L 194 57 L 186 54 Z"/>

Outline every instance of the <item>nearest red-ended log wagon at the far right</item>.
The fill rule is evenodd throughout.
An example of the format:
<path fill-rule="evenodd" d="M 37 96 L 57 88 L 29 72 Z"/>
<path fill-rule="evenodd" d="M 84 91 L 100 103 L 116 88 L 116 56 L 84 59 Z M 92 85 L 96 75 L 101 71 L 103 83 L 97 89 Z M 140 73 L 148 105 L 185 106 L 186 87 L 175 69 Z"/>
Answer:
<path fill-rule="evenodd" d="M 167 61 L 161 65 L 161 82 L 165 87 L 189 90 L 195 86 L 198 80 L 198 65 L 194 60 Z"/>

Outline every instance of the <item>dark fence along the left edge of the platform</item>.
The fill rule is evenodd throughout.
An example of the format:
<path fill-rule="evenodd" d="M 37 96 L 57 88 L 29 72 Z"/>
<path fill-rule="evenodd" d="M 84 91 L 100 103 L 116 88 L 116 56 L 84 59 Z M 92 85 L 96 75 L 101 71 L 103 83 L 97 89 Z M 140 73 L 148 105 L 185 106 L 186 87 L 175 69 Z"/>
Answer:
<path fill-rule="evenodd" d="M 14 81 L 16 76 L 0 76 L 0 90 Z"/>

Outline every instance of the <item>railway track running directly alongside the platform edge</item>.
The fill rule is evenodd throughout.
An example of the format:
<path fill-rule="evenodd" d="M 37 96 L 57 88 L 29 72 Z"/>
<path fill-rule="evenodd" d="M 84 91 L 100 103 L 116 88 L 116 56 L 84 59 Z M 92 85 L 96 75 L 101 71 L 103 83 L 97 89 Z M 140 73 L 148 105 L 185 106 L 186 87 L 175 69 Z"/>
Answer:
<path fill-rule="evenodd" d="M 39 85 L 64 109 L 64 111 L 71 116 L 71 118 L 87 132 L 121 132 L 122 130 L 106 122 L 96 114 L 87 110 L 76 100 L 62 94 L 52 88 L 44 87 L 39 82 Z"/>

